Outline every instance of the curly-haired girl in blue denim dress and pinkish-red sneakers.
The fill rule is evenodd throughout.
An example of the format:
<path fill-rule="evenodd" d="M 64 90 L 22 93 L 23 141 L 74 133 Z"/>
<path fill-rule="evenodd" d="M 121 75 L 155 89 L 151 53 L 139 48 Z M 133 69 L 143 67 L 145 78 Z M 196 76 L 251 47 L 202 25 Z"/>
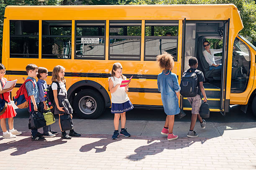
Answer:
<path fill-rule="evenodd" d="M 157 56 L 156 61 L 158 62 L 160 69 L 163 70 L 157 76 L 157 86 L 158 90 L 161 92 L 164 112 L 167 115 L 161 134 L 167 135 L 167 140 L 174 140 L 178 138 L 178 135 L 172 133 L 174 115 L 177 115 L 180 112 L 179 82 L 177 75 L 171 72 L 174 67 L 174 60 L 171 54 L 164 52 L 162 55 Z"/>

